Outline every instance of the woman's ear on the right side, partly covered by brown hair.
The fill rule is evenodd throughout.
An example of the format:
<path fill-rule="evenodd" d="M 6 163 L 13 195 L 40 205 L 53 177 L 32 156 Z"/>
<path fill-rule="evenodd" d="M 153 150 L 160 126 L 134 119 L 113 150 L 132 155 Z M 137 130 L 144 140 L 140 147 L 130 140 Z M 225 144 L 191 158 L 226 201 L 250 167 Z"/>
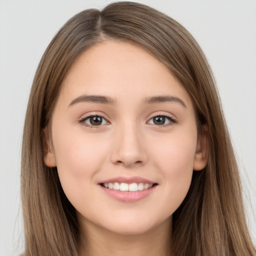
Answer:
<path fill-rule="evenodd" d="M 203 130 L 197 138 L 196 150 L 194 154 L 193 170 L 202 170 L 207 162 L 209 156 L 207 131 L 208 125 L 202 126 Z"/>

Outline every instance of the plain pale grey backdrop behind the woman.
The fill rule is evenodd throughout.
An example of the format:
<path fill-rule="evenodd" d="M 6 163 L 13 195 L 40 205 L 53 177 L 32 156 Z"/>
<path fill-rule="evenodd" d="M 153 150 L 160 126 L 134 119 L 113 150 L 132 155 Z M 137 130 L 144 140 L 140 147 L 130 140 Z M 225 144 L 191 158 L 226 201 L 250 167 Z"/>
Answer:
<path fill-rule="evenodd" d="M 256 1 L 138 0 L 184 25 L 205 52 L 223 103 L 256 240 Z M 23 248 L 19 193 L 22 126 L 35 69 L 53 35 L 102 0 L 0 0 L 0 256 Z M 228 182 L 228 180 L 226 180 Z"/>

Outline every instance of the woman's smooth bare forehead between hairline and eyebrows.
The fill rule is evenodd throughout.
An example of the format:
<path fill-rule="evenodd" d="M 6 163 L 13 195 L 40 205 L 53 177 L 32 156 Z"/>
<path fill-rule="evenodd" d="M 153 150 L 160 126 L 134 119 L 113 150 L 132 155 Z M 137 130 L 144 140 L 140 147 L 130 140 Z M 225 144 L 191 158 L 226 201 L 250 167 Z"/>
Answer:
<path fill-rule="evenodd" d="M 103 94 L 121 101 L 152 95 L 189 95 L 169 69 L 141 47 L 129 42 L 107 40 L 82 52 L 62 81 L 60 94 L 77 97 Z"/>

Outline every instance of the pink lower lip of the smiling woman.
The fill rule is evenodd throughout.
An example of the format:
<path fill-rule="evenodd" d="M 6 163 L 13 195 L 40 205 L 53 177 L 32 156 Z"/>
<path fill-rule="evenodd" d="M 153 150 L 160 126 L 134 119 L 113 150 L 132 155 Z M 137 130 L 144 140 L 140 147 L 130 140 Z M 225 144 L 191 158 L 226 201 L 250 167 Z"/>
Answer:
<path fill-rule="evenodd" d="M 146 196 L 148 196 L 155 189 L 156 185 L 153 185 L 150 188 L 143 189 L 140 191 L 120 191 L 115 189 L 106 188 L 102 185 L 99 185 L 101 189 L 107 193 L 109 196 L 123 202 L 135 202 Z"/>

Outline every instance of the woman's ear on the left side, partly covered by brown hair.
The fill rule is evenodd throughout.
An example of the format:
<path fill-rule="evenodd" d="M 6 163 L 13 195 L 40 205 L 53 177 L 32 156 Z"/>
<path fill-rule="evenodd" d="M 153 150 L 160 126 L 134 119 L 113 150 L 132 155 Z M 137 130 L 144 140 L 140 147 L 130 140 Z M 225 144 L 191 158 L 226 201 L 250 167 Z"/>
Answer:
<path fill-rule="evenodd" d="M 47 128 L 42 129 L 42 142 L 43 142 L 43 160 L 44 164 L 48 167 L 56 166 L 56 159 L 52 150 L 52 145 L 49 139 L 49 132 Z"/>

